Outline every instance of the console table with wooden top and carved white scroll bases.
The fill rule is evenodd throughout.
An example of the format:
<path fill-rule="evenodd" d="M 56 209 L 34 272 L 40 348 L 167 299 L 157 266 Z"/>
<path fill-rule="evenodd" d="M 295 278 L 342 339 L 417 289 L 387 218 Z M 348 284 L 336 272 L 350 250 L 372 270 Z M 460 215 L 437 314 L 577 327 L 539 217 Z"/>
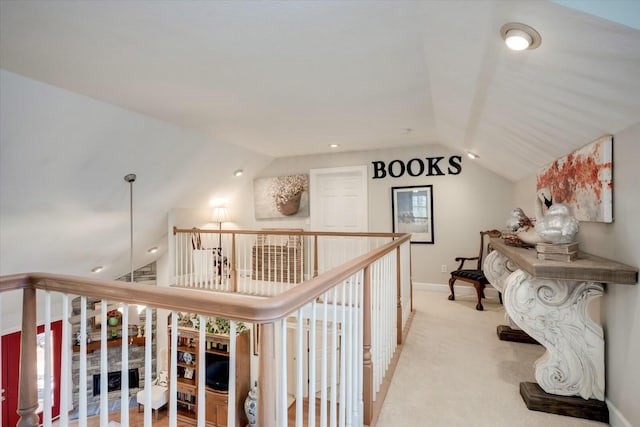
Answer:
<path fill-rule="evenodd" d="M 507 314 L 546 348 L 536 383 L 520 383 L 532 410 L 608 422 L 604 402 L 604 336 L 587 312 L 603 283 L 632 285 L 638 269 L 580 252 L 572 262 L 537 258 L 535 248 L 491 239 L 484 271 L 503 292 Z"/>

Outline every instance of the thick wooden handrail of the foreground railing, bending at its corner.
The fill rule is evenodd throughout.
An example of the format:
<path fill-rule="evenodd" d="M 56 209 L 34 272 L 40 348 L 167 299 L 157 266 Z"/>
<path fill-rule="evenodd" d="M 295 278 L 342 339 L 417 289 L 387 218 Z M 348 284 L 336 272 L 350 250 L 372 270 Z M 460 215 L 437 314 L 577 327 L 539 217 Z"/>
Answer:
<path fill-rule="evenodd" d="M 205 316 L 269 323 L 284 318 L 334 287 L 336 283 L 346 280 L 410 239 L 409 234 L 401 234 L 398 237 L 368 254 L 314 277 L 287 292 L 268 298 L 144 284 L 136 284 L 132 287 L 129 283 L 113 280 L 48 273 L 1 276 L 0 292 L 35 288 L 113 301 L 127 301 L 129 304 L 150 305 L 167 310 L 196 312 Z"/>

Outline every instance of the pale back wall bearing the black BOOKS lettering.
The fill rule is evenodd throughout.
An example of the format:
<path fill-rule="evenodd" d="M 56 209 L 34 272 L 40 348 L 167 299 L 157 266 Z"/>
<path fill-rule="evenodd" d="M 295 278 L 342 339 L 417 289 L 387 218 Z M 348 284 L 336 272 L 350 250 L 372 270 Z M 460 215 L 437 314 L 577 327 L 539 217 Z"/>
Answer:
<path fill-rule="evenodd" d="M 308 174 L 310 169 L 315 168 L 366 165 L 369 170 L 369 231 L 382 232 L 392 230 L 391 187 L 433 185 L 435 244 L 412 245 L 413 280 L 421 283 L 447 283 L 449 274 L 440 271 L 441 265 L 446 264 L 447 271 L 453 270 L 456 264 L 455 257 L 477 255 L 480 230 L 503 227 L 511 209 L 512 183 L 466 157 L 462 159 L 462 172 L 459 175 L 431 177 L 405 175 L 400 178 L 387 176 L 383 179 L 372 179 L 371 162 L 381 160 L 388 164 L 395 159 L 407 162 L 412 158 L 444 156 L 444 163 L 451 155 L 460 153 L 440 145 L 422 145 L 389 150 L 287 157 L 274 160 L 259 173 L 259 177 Z M 445 170 L 446 167 L 442 169 Z M 245 184 L 244 190 L 229 207 L 234 218 L 234 224 L 230 224 L 229 228 L 309 228 L 308 218 L 256 220 L 250 182 Z"/>

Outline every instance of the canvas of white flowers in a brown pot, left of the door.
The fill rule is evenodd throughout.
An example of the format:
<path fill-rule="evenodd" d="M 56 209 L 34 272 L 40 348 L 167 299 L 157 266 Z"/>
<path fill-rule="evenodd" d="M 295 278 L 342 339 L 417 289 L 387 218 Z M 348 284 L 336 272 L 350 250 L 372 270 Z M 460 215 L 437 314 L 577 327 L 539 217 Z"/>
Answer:
<path fill-rule="evenodd" d="M 309 216 L 309 175 L 283 175 L 253 181 L 256 219 Z"/>

